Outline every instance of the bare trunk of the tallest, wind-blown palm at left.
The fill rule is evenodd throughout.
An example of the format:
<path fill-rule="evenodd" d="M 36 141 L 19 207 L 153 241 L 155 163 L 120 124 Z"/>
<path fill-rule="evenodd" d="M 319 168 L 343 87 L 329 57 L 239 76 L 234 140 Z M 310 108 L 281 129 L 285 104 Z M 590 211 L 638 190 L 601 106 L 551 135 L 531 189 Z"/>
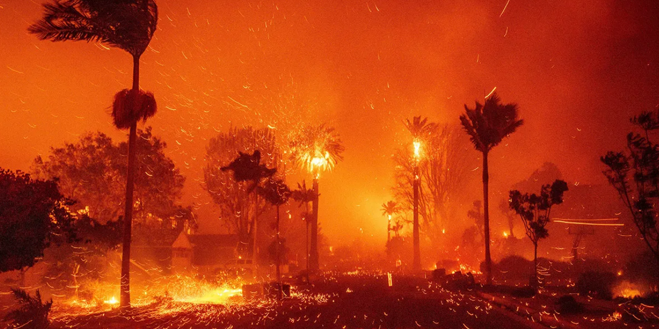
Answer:
<path fill-rule="evenodd" d="M 132 89 L 140 89 L 140 57 L 134 56 L 132 61 Z M 128 172 L 126 174 L 126 202 L 123 222 L 123 253 L 121 254 L 121 307 L 130 307 L 130 240 L 132 228 L 132 192 L 135 172 L 135 141 L 137 122 L 130 126 L 128 139 Z"/>

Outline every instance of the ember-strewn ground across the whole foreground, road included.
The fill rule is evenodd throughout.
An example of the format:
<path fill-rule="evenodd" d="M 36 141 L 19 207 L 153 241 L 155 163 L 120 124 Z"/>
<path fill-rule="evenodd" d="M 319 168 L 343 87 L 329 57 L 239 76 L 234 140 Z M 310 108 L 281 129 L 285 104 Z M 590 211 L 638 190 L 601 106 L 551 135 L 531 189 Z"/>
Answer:
<path fill-rule="evenodd" d="M 605 320 L 615 311 L 608 306 L 594 313 L 591 312 L 594 307 L 588 306 L 591 313 L 586 316 L 560 315 L 554 310 L 556 296 L 551 293 L 513 298 L 478 286 L 447 290 L 424 278 L 410 276 L 394 276 L 393 287 L 389 287 L 386 274 L 366 272 L 328 273 L 312 283 L 294 284 L 292 297 L 281 302 L 263 299 L 245 302 L 235 296 L 219 305 L 161 298 L 156 303 L 134 307 L 128 313 L 117 309 L 85 312 L 56 303 L 51 327 L 604 329 L 656 326 L 656 322 Z"/>

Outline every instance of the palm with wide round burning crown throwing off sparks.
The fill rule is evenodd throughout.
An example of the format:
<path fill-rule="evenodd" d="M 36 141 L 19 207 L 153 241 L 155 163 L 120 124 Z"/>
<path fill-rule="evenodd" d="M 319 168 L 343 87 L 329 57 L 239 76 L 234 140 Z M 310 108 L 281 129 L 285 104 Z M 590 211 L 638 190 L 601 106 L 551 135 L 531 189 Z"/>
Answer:
<path fill-rule="evenodd" d="M 314 195 L 311 218 L 311 247 L 309 251 L 310 270 L 318 270 L 318 178 L 323 170 L 331 170 L 343 157 L 345 150 L 339 134 L 334 128 L 305 126 L 291 136 L 291 159 L 302 170 L 313 175 L 312 190 Z"/>

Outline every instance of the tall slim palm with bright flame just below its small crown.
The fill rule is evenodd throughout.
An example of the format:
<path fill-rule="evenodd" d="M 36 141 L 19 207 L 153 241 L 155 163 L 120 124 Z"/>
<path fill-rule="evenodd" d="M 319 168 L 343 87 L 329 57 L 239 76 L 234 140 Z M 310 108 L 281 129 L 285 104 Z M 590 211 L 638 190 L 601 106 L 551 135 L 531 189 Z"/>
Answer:
<path fill-rule="evenodd" d="M 414 145 L 414 166 L 413 166 L 413 189 L 414 189 L 414 206 L 413 206 L 413 245 L 414 245 L 414 259 L 412 262 L 412 267 L 415 270 L 421 269 L 421 248 L 419 241 L 419 227 L 418 227 L 418 193 L 419 193 L 419 180 L 420 174 L 418 172 L 418 162 L 421 156 L 421 142 L 424 139 L 427 139 L 432 130 L 435 128 L 435 124 L 428 123 L 428 118 L 421 118 L 420 116 L 415 116 L 410 122 L 409 119 L 406 120 L 405 126 L 409 130 L 413 138 Z"/>

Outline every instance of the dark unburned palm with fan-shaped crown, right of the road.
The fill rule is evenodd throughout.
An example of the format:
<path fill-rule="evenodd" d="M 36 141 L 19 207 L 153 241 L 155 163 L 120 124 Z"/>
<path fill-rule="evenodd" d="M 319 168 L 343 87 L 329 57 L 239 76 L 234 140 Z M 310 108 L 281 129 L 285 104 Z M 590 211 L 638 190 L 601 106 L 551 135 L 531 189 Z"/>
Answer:
<path fill-rule="evenodd" d="M 465 104 L 465 114 L 460 116 L 465 132 L 469 134 L 476 151 L 483 154 L 483 211 L 485 235 L 485 272 L 487 284 L 492 284 L 492 258 L 490 257 L 490 208 L 488 201 L 488 153 L 499 145 L 501 140 L 512 134 L 524 121 L 519 119 L 516 103 L 501 104 L 496 93 L 485 99 L 482 105 L 469 109 Z"/>

